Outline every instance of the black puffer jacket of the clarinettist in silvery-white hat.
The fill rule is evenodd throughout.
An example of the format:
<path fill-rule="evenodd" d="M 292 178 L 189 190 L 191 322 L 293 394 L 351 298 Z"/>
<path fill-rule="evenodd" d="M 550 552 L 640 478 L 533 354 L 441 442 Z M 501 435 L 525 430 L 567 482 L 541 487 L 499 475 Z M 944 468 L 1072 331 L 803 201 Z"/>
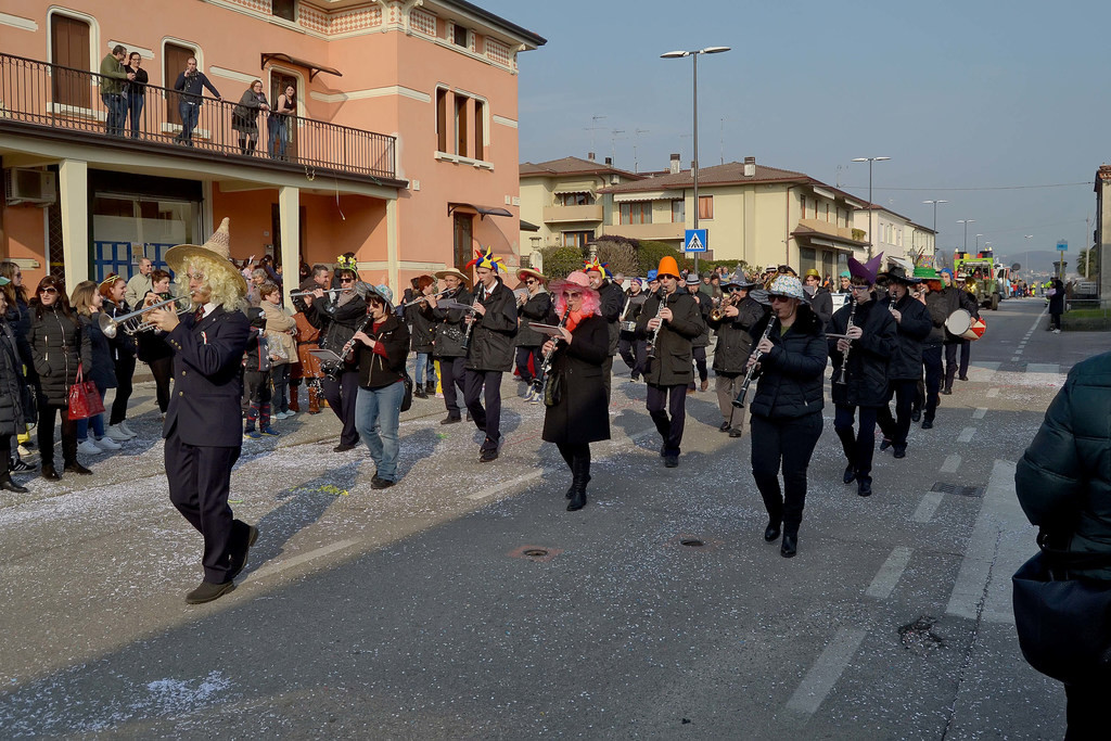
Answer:
<path fill-rule="evenodd" d="M 774 327 L 769 336 L 772 348 L 760 359 L 757 392 L 749 405 L 753 417 L 797 419 L 820 414 L 825 405 L 825 333 L 809 307 L 800 306 L 798 311 L 785 333 Z M 771 316 L 752 328 L 753 348 Z"/>

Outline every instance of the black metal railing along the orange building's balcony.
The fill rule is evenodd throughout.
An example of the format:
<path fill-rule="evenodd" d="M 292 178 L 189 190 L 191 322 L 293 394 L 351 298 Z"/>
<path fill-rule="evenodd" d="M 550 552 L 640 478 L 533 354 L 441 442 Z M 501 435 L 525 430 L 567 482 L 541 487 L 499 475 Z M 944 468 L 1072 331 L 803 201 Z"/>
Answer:
<path fill-rule="evenodd" d="M 396 178 L 393 137 L 299 116 L 244 111 L 238 106 L 239 93 L 221 101 L 154 84 L 141 90 L 126 80 L 0 53 L 0 128 L 6 122 L 29 123 L 99 133 L 106 143 L 137 140 L 162 150 Z"/>

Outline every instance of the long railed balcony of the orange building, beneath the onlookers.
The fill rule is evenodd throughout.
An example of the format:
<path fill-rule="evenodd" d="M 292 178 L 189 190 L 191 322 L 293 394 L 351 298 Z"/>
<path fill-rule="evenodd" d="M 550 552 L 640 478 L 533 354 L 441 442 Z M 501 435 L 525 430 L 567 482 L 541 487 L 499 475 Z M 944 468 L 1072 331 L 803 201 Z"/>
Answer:
<path fill-rule="evenodd" d="M 122 123 L 109 132 L 109 107 L 100 94 L 103 80 L 96 72 L 0 53 L 0 133 L 404 186 L 397 180 L 393 137 L 290 116 L 282 154 L 279 141 L 268 142 L 269 122 L 261 112 L 258 148 L 243 151 L 240 132 L 232 128 L 237 104 L 214 98 L 203 97 L 202 104 L 192 107 L 197 126 L 187 142 L 180 111 L 188 97 L 154 84 L 146 86 L 146 103 L 134 130 L 123 96 Z"/>

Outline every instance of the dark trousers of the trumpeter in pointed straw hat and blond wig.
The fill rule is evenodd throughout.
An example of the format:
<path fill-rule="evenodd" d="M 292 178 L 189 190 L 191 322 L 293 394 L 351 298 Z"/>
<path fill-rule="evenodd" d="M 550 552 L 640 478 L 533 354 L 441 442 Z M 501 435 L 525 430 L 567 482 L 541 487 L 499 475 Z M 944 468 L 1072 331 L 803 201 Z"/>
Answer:
<path fill-rule="evenodd" d="M 239 452 L 239 448 L 187 445 L 178 437 L 177 424 L 166 438 L 170 501 L 204 538 L 201 564 L 204 581 L 213 584 L 228 581 L 229 555 L 238 534 L 228 494 Z"/>

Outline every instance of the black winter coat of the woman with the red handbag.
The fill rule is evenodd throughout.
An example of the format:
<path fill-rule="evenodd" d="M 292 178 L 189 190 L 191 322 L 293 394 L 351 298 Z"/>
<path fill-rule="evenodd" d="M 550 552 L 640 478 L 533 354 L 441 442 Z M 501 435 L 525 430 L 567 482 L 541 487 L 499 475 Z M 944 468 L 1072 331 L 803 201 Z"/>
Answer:
<path fill-rule="evenodd" d="M 78 327 L 77 313 L 66 317 L 57 302 L 31 309 L 27 341 L 39 374 L 41 398 L 54 407 L 69 407 L 69 389 L 77 380 L 78 364 L 86 373 L 92 371 L 92 346 Z"/>

